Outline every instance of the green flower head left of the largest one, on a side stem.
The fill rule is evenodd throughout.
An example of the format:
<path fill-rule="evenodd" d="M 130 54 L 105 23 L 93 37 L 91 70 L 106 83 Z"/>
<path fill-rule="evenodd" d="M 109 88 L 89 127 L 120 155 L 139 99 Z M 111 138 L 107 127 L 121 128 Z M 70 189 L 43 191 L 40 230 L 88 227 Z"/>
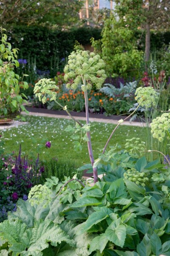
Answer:
<path fill-rule="evenodd" d="M 56 100 L 56 92 L 59 87 L 51 79 L 43 78 L 35 84 L 34 93 L 38 97 L 39 101 L 45 104 L 47 102 L 47 96 L 51 101 Z"/>

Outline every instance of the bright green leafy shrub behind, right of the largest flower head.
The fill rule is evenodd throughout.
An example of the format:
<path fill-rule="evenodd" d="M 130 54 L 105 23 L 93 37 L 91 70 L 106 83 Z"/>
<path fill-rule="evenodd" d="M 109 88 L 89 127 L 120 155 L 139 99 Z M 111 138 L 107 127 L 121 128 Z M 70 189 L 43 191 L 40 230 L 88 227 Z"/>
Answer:
<path fill-rule="evenodd" d="M 106 19 L 101 43 L 101 56 L 109 76 L 139 76 L 143 52 L 137 49 L 133 31 L 128 26 L 121 25 L 115 17 Z"/>

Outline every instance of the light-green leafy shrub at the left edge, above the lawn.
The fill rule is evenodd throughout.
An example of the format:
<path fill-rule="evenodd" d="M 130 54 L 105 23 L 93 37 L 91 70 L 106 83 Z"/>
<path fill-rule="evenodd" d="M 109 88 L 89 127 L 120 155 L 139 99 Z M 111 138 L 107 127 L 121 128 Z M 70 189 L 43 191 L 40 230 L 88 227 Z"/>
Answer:
<path fill-rule="evenodd" d="M 7 35 L 3 34 L 5 29 L 0 28 L 0 116 L 15 117 L 20 115 L 21 110 L 26 111 L 22 105 L 27 103 L 20 93 L 20 87 L 28 88 L 26 82 L 21 81 L 20 77 L 14 73 L 14 67 L 19 67 L 17 61 L 18 49 L 11 49 L 11 44 L 7 42 Z M 23 75 L 27 76 L 27 75 Z"/>

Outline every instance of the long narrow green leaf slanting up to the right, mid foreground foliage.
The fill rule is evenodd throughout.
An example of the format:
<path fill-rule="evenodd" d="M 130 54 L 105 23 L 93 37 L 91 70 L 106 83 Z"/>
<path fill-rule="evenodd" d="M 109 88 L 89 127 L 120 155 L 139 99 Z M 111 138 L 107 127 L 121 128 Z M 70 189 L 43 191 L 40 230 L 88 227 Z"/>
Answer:
<path fill-rule="evenodd" d="M 106 208 L 106 207 L 101 207 L 100 211 L 96 211 L 93 212 L 87 219 L 87 221 L 85 221 L 82 226 L 81 229 L 79 230 L 79 233 L 85 233 L 86 231 L 88 231 L 93 225 L 101 222 L 102 220 L 104 220 L 105 218 L 109 217 L 109 214 L 113 214 L 113 212 L 111 211 L 111 209 Z"/>

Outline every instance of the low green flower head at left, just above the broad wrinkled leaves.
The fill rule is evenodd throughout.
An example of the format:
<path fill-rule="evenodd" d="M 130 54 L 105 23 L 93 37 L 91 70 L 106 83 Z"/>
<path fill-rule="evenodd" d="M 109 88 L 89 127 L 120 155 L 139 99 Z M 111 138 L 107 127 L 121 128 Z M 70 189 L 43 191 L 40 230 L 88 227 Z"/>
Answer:
<path fill-rule="evenodd" d="M 51 202 L 51 190 L 48 189 L 47 186 L 45 185 L 37 185 L 31 188 L 29 194 L 28 194 L 28 199 L 31 203 L 31 205 L 34 204 L 41 204 L 44 202 L 44 206 L 46 207 L 49 202 Z M 46 202 L 45 202 L 46 201 Z"/>

